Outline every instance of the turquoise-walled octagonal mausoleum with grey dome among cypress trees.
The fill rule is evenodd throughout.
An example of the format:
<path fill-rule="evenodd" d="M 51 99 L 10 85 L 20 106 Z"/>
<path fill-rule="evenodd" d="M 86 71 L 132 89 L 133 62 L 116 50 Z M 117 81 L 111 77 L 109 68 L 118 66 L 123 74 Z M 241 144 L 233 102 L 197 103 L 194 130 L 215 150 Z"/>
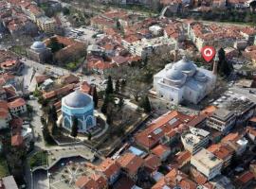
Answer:
<path fill-rule="evenodd" d="M 78 118 L 79 132 L 86 132 L 95 127 L 94 102 L 92 96 L 75 91 L 62 99 L 63 127 L 72 129 L 72 120 Z"/>

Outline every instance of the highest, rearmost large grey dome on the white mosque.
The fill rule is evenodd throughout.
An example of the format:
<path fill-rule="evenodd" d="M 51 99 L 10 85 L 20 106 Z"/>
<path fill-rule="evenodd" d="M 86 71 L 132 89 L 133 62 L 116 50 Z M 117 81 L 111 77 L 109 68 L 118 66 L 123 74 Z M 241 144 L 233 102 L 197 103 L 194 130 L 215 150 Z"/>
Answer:
<path fill-rule="evenodd" d="M 177 61 L 174 64 L 174 69 L 180 70 L 189 76 L 192 76 L 196 71 L 195 65 L 191 61 L 186 60 L 186 58 L 183 58 L 182 60 Z"/>

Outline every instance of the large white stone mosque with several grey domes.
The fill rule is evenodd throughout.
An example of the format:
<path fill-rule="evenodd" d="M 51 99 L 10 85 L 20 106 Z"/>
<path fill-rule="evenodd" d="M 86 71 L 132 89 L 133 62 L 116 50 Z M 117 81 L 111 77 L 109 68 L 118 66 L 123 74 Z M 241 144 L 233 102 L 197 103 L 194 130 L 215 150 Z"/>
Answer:
<path fill-rule="evenodd" d="M 215 65 L 213 66 L 214 69 Z M 185 57 L 169 63 L 154 76 L 154 89 L 157 96 L 172 104 L 187 101 L 197 104 L 215 88 L 215 71 L 197 67 Z"/>

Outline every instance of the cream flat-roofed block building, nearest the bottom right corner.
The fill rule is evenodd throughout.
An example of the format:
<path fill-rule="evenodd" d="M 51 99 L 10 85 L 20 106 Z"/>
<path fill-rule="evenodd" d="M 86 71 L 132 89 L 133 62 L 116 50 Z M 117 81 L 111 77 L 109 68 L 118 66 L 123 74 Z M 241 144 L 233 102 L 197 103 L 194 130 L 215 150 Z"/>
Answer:
<path fill-rule="evenodd" d="M 191 159 L 192 166 L 208 178 L 213 179 L 221 174 L 223 160 L 219 159 L 209 150 L 202 148 Z"/>

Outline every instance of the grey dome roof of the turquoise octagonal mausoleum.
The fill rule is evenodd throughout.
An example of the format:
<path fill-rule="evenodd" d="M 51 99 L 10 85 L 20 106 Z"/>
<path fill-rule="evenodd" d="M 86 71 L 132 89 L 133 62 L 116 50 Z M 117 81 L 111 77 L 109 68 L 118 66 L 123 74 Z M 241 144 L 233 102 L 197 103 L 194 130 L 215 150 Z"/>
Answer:
<path fill-rule="evenodd" d="M 92 102 L 89 94 L 83 94 L 81 91 L 75 91 L 64 97 L 64 103 L 71 108 L 83 108 Z"/>

